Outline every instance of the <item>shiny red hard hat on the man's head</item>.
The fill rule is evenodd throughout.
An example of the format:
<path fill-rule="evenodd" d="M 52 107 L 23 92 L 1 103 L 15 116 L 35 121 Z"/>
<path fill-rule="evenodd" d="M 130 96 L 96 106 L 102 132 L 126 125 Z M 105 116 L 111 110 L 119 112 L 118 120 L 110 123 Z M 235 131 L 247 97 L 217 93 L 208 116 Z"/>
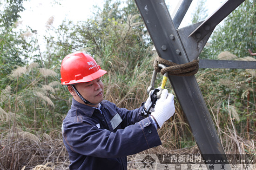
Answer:
<path fill-rule="evenodd" d="M 92 81 L 106 73 L 90 55 L 74 52 L 61 62 L 61 85 Z"/>

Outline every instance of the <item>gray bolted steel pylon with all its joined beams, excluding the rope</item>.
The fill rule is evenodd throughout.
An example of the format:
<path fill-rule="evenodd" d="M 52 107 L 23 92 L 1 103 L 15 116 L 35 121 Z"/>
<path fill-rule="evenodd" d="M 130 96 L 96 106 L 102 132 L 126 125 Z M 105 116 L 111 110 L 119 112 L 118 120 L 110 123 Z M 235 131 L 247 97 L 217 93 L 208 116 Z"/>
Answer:
<path fill-rule="evenodd" d="M 208 19 L 178 29 L 192 0 L 183 0 L 172 19 L 165 0 L 135 0 L 148 29 L 157 54 L 176 64 L 184 64 L 197 59 L 215 27 L 236 9 L 244 0 L 227 0 Z M 199 60 L 201 68 L 256 69 L 256 62 L 222 60 Z M 214 64 L 215 63 L 215 64 Z M 210 66 L 212 65 L 212 66 Z M 176 97 L 188 120 L 196 144 L 203 159 L 226 160 L 226 154 L 217 135 L 209 110 L 197 84 L 195 76 L 168 76 Z M 209 167 L 207 166 L 209 169 Z M 226 166 L 226 170 L 231 170 Z"/>

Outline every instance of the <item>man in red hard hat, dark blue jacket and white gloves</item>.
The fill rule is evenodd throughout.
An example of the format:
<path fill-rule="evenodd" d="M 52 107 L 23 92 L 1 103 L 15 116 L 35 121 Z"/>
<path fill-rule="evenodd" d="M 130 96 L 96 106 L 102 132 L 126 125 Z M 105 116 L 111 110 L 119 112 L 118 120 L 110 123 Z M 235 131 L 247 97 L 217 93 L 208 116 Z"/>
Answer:
<path fill-rule="evenodd" d="M 143 107 L 128 111 L 103 100 L 101 76 L 106 74 L 83 52 L 67 55 L 61 63 L 61 84 L 73 96 L 62 124 L 70 170 L 127 170 L 127 156 L 161 143 L 157 128 L 175 112 L 174 96 L 162 91 L 155 111 L 143 117 Z"/>

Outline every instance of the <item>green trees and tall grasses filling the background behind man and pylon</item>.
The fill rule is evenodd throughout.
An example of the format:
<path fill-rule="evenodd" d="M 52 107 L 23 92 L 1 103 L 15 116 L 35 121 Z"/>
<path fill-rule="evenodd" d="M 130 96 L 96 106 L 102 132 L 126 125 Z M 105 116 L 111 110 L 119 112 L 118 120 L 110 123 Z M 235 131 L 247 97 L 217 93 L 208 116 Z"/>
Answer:
<path fill-rule="evenodd" d="M 256 60 L 248 52 L 256 52 L 255 2 L 246 0 L 216 28 L 200 59 Z M 94 17 L 76 24 L 64 20 L 53 27 L 50 18 L 45 48 L 36 30 L 19 29 L 22 3 L 0 3 L 0 169 L 67 169 L 61 124 L 71 95 L 60 84 L 61 60 L 75 51 L 92 55 L 108 71 L 105 99 L 133 109 L 148 98 L 156 53 L 132 0 L 106 0 L 103 10 L 95 7 Z M 203 6 L 202 1 L 193 23 L 205 19 Z M 200 69 L 196 78 L 225 151 L 255 154 L 255 70 Z M 159 130 L 162 146 L 147 152 L 199 152 L 177 101 L 175 107 L 175 116 Z"/>

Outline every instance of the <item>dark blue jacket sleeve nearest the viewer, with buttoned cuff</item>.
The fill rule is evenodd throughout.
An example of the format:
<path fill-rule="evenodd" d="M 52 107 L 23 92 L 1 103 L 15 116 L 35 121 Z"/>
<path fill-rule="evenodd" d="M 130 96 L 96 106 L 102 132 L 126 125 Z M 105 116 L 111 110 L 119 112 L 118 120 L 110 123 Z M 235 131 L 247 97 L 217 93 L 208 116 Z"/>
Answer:
<path fill-rule="evenodd" d="M 90 121 L 64 124 L 63 139 L 67 149 L 93 157 L 123 157 L 158 146 L 161 140 L 150 118 L 111 132 Z"/>

